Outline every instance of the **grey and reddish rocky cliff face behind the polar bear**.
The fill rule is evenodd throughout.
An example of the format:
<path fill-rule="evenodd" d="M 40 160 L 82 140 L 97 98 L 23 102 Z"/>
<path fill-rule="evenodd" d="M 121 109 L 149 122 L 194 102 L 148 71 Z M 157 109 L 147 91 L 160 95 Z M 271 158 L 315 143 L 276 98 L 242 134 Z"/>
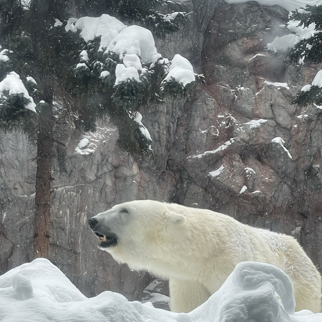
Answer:
<path fill-rule="evenodd" d="M 182 6 L 182 5 L 180 5 Z M 322 267 L 321 113 L 290 102 L 316 66 L 290 66 L 264 50 L 287 12 L 256 3 L 184 3 L 191 24 L 159 41 L 170 59 L 189 58 L 206 84 L 185 100 L 141 111 L 153 156 L 131 156 L 108 120 L 96 133 L 70 130 L 52 169 L 50 260 L 87 295 L 137 299 L 149 276 L 96 247 L 86 219 L 133 199 L 209 208 L 294 235 Z M 178 8 L 182 10 L 182 8 Z M 77 144 L 86 137 L 88 145 Z M 21 133 L 0 137 L 0 270 L 30 261 L 35 149 Z"/>

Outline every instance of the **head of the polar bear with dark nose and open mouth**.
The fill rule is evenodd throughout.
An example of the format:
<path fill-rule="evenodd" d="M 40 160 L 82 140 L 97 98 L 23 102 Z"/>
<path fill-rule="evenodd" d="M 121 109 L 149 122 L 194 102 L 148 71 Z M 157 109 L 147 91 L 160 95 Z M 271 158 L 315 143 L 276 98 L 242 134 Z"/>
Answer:
<path fill-rule="evenodd" d="M 125 202 L 90 218 L 89 225 L 99 237 L 99 248 L 117 262 L 164 273 L 165 266 L 179 261 L 188 234 L 186 216 L 181 206 L 174 205 L 152 200 Z"/>

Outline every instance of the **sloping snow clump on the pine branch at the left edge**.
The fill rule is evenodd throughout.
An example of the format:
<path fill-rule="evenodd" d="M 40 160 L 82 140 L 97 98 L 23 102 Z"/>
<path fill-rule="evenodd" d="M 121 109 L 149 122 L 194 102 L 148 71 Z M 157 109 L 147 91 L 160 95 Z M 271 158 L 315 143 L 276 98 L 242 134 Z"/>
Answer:
<path fill-rule="evenodd" d="M 5 95 L 8 95 L 8 92 L 9 95 L 22 94 L 22 96 L 29 100 L 29 103 L 25 105 L 25 108 L 33 112 L 36 112 L 36 104 L 34 103 L 33 98 L 29 96 L 29 93 L 25 88 L 24 83 L 15 71 L 12 71 L 9 74 L 7 74 L 3 81 L 0 82 L 0 98 L 2 98 Z"/>

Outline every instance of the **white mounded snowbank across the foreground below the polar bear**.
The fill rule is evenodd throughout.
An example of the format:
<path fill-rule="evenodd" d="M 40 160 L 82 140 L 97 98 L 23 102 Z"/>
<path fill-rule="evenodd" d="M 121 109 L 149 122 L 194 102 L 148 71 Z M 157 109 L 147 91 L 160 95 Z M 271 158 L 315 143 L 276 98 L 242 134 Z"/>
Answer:
<path fill-rule="evenodd" d="M 110 291 L 87 298 L 56 266 L 36 259 L 0 276 L 0 321 L 321 322 L 322 313 L 294 313 L 292 290 L 275 266 L 243 262 L 204 304 L 175 313 Z"/>

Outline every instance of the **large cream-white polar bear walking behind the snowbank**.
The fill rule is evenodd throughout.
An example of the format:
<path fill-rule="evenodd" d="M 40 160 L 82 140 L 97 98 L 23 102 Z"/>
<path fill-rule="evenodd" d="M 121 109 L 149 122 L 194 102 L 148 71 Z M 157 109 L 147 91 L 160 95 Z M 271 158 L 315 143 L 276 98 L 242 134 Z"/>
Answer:
<path fill-rule="evenodd" d="M 171 309 L 189 312 L 216 292 L 236 264 L 282 269 L 294 287 L 296 310 L 321 308 L 321 277 L 297 241 L 211 210 L 136 200 L 89 219 L 99 247 L 133 270 L 169 279 Z"/>

